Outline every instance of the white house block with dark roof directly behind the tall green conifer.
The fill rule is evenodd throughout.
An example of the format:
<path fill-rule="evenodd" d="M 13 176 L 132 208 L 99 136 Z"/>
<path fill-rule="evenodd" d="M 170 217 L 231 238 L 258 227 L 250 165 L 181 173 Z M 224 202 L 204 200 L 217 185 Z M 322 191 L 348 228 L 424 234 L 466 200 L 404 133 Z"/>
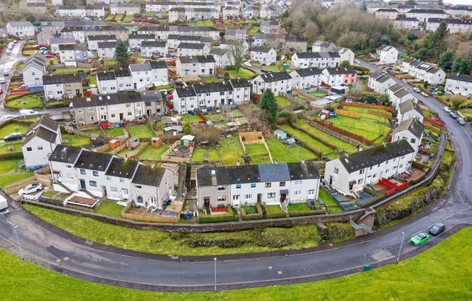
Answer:
<path fill-rule="evenodd" d="M 252 92 L 255 94 L 263 94 L 265 89 L 272 89 L 275 95 L 279 91 L 292 91 L 292 77 L 285 71 L 259 74 L 252 80 Z"/>

